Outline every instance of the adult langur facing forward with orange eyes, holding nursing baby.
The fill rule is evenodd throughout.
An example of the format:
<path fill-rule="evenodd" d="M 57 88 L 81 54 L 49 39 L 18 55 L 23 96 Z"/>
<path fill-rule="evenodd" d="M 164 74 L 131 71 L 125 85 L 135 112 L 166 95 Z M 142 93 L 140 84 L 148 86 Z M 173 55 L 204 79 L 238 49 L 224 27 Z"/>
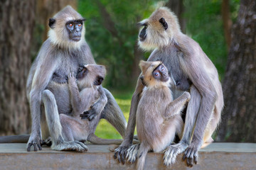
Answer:
<path fill-rule="evenodd" d="M 58 90 L 58 84 L 66 83 L 66 86 L 68 86 L 66 78 L 70 72 L 77 72 L 79 67 L 86 64 L 95 64 L 90 47 L 85 42 L 85 26 L 83 26 L 83 21 L 85 19 L 71 6 L 66 6 L 49 20 L 51 28 L 48 33 L 49 38 L 43 42 L 41 50 L 38 52 L 35 62 L 33 62 L 26 87 L 32 117 L 31 136 L 27 144 L 28 151 L 31 150 L 32 145 L 35 151 L 37 147 L 41 150 L 42 135 L 43 139 L 49 136 L 45 111 L 55 112 L 54 109 L 51 111 L 50 108 L 55 108 L 53 106 L 56 102 L 47 103 L 42 100 L 43 94 L 49 94 L 49 91 L 48 93 L 43 93 L 47 89 L 48 84 L 53 81 L 55 82 L 56 86 L 51 88 L 52 91 Z M 114 128 L 124 136 L 127 123 L 122 111 L 107 89 L 103 89 L 100 86 L 99 91 L 107 96 L 107 105 L 102 111 L 101 116 L 114 125 Z M 68 93 L 68 88 L 67 91 L 62 93 Z M 103 98 L 105 95 L 101 95 L 102 97 L 91 106 L 87 114 L 89 120 L 92 120 L 97 116 L 97 113 L 100 113 L 98 110 L 101 108 L 102 103 L 105 102 L 105 98 Z M 45 110 L 44 108 L 48 109 Z M 68 114 L 70 110 L 58 106 L 58 113 Z M 59 121 L 54 122 L 59 123 Z M 49 123 L 53 122 L 48 121 Z M 54 125 L 52 126 L 54 127 Z M 60 125 L 58 124 L 56 127 L 60 127 Z M 87 148 L 82 142 L 66 142 L 63 140 L 61 130 L 61 128 L 49 130 L 55 136 L 52 139 L 55 148 L 61 148 L 62 150 L 72 149 L 80 152 L 86 151 Z"/>

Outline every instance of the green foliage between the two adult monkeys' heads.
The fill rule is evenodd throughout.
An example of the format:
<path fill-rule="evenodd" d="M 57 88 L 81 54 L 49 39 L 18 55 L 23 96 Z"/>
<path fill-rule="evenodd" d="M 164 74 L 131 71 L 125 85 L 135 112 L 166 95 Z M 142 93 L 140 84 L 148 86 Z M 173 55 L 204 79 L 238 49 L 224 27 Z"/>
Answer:
<path fill-rule="evenodd" d="M 87 18 L 87 42 L 97 63 L 107 66 L 107 86 L 129 84 L 139 30 L 136 24 L 154 11 L 153 4 L 152 0 L 79 1 L 78 11 Z"/>

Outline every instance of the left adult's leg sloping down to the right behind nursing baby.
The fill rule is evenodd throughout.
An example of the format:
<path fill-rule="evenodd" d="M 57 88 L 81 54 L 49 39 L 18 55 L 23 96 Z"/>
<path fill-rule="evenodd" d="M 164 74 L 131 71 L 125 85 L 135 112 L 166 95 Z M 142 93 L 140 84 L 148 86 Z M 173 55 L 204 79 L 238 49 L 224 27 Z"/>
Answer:
<path fill-rule="evenodd" d="M 107 96 L 107 104 L 102 111 L 102 118 L 105 118 L 114 128 L 117 129 L 120 135 L 124 137 L 124 132 L 127 127 L 127 122 L 124 118 L 124 114 L 119 108 L 117 102 L 114 100 L 114 96 L 108 91 L 105 90 L 105 94 Z"/>

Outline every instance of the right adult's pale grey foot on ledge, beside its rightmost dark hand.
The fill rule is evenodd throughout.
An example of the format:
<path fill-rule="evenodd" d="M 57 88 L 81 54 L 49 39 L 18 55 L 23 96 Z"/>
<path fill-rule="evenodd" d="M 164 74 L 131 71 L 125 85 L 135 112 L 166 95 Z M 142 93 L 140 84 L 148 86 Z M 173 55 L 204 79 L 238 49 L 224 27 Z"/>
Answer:
<path fill-rule="evenodd" d="M 178 154 L 181 154 L 188 147 L 187 144 L 179 142 L 176 145 L 171 145 L 164 151 L 164 165 L 169 166 L 174 164 Z"/>

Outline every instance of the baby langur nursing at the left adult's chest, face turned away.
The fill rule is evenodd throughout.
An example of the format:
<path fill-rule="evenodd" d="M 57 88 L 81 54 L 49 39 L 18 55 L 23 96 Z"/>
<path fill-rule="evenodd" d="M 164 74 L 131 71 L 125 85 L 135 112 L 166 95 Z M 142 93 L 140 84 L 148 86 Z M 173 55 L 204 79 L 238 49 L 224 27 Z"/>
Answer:
<path fill-rule="evenodd" d="M 97 64 L 87 64 L 85 67 L 80 67 L 77 77 L 72 73 L 69 74 L 68 89 L 73 111 L 70 115 L 60 114 L 60 124 L 63 128 L 62 135 L 65 141 L 85 142 L 88 140 L 95 144 L 120 144 L 122 142 L 122 140 L 101 139 L 94 134 L 101 113 L 97 113 L 98 116 L 93 119 L 87 118 L 87 111 L 91 109 L 91 106 L 101 95 L 105 95 L 98 90 L 103 79 L 105 79 L 105 75 L 105 67 Z M 105 108 L 106 104 L 107 100 L 102 103 L 100 111 Z"/>

